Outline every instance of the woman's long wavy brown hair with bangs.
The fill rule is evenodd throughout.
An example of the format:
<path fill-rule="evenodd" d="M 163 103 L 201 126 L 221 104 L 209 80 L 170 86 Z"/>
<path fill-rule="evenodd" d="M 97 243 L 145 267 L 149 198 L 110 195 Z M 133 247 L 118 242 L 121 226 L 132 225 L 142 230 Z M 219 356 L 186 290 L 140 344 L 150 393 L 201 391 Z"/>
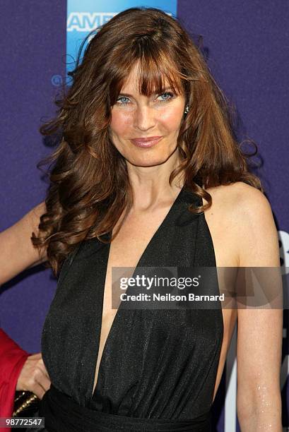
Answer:
<path fill-rule="evenodd" d="M 177 138 L 181 162 L 170 173 L 170 184 L 182 172 L 186 187 L 208 202 L 191 212 L 211 206 L 205 188 L 243 181 L 263 192 L 235 138 L 232 107 L 199 45 L 177 18 L 160 9 L 126 9 L 85 38 L 70 73 L 71 85 L 55 101 L 57 116 L 40 127 L 44 136 L 61 137 L 52 155 L 37 164 L 52 162 L 46 212 L 38 236 L 33 232 L 31 237 L 39 250 L 46 248 L 45 265 L 54 275 L 81 241 L 105 241 L 101 236 L 131 208 L 126 161 L 110 140 L 110 120 L 136 61 L 142 95 L 164 92 L 167 78 L 189 105 Z"/>

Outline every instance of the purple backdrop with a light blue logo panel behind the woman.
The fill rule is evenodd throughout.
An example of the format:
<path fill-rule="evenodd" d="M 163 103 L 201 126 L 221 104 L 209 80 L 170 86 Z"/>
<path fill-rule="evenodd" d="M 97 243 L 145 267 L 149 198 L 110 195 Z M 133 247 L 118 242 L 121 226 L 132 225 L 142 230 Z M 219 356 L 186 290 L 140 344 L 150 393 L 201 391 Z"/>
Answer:
<path fill-rule="evenodd" d="M 263 181 L 278 229 L 283 286 L 289 268 L 288 222 L 288 1 L 2 0 L 0 231 L 45 199 L 37 162 L 52 148 L 40 125 L 52 118 L 54 99 L 90 30 L 133 6 L 177 16 L 201 36 L 213 76 L 235 104 L 240 139 L 258 145 Z M 20 240 L 19 240 L 20 241 Z M 15 251 L 17 253 L 17 250 Z M 40 352 L 42 325 L 57 281 L 41 265 L 0 288 L 0 325 L 21 347 Z M 281 389 L 283 428 L 289 428 L 288 311 L 284 310 Z M 236 414 L 236 329 L 216 400 L 214 430 L 240 431 Z"/>

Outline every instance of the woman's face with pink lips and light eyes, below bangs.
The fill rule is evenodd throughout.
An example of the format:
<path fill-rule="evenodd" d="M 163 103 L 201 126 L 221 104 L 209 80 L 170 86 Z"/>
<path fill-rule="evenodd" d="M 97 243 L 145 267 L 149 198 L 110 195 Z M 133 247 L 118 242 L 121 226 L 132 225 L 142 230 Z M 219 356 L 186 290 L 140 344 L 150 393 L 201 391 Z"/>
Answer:
<path fill-rule="evenodd" d="M 140 95 L 137 82 L 136 64 L 112 107 L 110 138 L 126 161 L 150 167 L 165 162 L 175 152 L 185 101 L 183 95 L 175 95 L 168 83 L 161 95 Z M 131 141 L 156 136 L 161 138 L 151 147 Z"/>

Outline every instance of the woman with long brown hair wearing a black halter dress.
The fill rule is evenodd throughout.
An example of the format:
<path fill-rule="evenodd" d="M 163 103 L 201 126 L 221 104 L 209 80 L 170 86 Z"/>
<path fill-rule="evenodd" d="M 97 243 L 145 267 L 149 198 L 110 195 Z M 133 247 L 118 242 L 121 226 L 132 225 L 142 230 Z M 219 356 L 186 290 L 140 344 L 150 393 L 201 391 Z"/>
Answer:
<path fill-rule="evenodd" d="M 201 52 L 175 18 L 130 8 L 80 56 L 40 128 L 63 138 L 45 210 L 27 217 L 40 255 L 26 259 L 61 271 L 44 363 L 30 385 L 25 363 L 17 388 L 42 399 L 47 431 L 210 431 L 237 320 L 240 426 L 281 431 L 280 309 L 112 309 L 113 267 L 280 266 L 269 202 Z"/>

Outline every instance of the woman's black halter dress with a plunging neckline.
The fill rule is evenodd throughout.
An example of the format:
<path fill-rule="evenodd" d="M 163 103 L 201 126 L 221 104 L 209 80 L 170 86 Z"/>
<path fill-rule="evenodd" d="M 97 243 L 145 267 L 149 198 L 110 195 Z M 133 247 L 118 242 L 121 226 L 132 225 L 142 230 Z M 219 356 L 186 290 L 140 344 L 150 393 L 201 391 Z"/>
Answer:
<path fill-rule="evenodd" d="M 201 198 L 183 187 L 136 268 L 216 268 L 204 213 L 191 214 L 191 203 L 201 205 Z M 77 412 L 81 419 L 78 428 L 70 429 L 73 431 L 90 430 L 88 412 L 93 412 L 93 421 L 99 420 L 102 425 L 95 423 L 91 429 L 94 431 L 118 430 L 115 424 L 112 426 L 110 416 L 107 426 L 103 424 L 103 414 L 111 414 L 114 423 L 119 421 L 119 430 L 126 430 L 122 428 L 122 417 L 136 420 L 136 426 L 138 419 L 185 420 L 191 424 L 202 415 L 207 419 L 223 341 L 221 307 L 125 310 L 121 303 L 103 349 L 93 392 L 109 251 L 110 244 L 90 239 L 81 244 L 73 259 L 66 260 L 61 270 L 42 332 L 42 357 L 53 384 L 42 402 L 45 426 L 49 421 L 49 425 L 54 424 L 51 431 L 68 431 L 69 409 L 71 416 Z M 220 294 L 217 278 L 206 287 L 208 293 Z M 71 398 L 64 408 L 68 410 L 67 426 L 59 409 L 52 409 L 60 395 Z M 60 398 L 59 403 L 66 404 L 66 399 Z M 71 407 L 71 402 L 77 409 Z M 211 430 L 210 426 L 204 427 L 168 426 L 159 430 Z"/>

